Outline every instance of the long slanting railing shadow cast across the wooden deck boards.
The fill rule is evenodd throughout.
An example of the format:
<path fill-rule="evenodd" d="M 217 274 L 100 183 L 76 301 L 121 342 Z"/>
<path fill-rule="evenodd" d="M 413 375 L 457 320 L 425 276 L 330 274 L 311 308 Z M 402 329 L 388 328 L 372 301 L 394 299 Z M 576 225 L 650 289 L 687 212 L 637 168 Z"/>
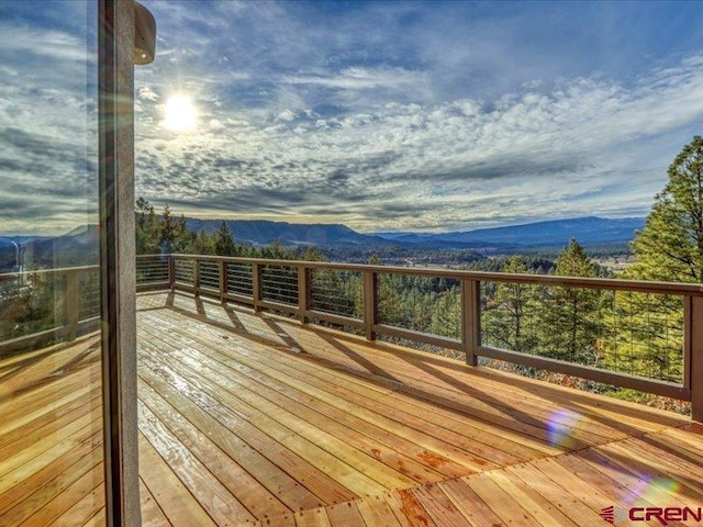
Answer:
<path fill-rule="evenodd" d="M 512 386 L 513 389 L 522 390 L 526 393 L 535 392 L 536 381 L 534 380 L 522 379 L 518 375 L 511 375 L 507 380 L 504 377 L 506 375 L 506 373 L 490 372 L 481 368 L 468 368 L 462 363 L 453 365 L 445 358 L 434 357 L 429 354 L 422 357 L 417 356 L 417 351 L 402 354 L 395 349 L 386 348 L 382 343 L 364 343 L 364 345 L 371 346 L 377 351 L 391 352 L 393 357 L 400 358 L 401 360 L 408 362 L 410 366 L 422 370 L 431 378 L 437 379 L 437 384 L 444 383 L 445 385 L 451 386 L 451 389 L 460 392 L 461 394 L 465 394 L 469 397 L 475 397 L 481 403 L 489 405 L 496 413 L 491 413 L 488 410 L 480 410 L 469 406 L 462 407 L 462 405 L 460 403 L 457 403 L 456 400 L 446 397 L 443 399 L 442 395 L 436 391 L 423 392 L 421 382 L 413 384 L 412 389 L 403 388 L 403 383 L 406 383 L 406 381 L 399 379 L 393 372 L 388 371 L 387 369 L 383 369 L 382 367 L 373 363 L 373 361 L 368 357 L 365 357 L 361 352 L 356 351 L 352 346 L 349 346 L 352 344 L 360 344 L 357 336 L 347 336 L 344 334 L 333 335 L 331 333 L 327 333 L 325 328 L 319 328 L 314 326 L 304 327 L 300 326 L 295 321 L 287 321 L 284 318 L 271 317 L 268 315 L 256 315 L 254 313 L 249 313 L 248 311 L 241 311 L 244 310 L 244 307 L 234 307 L 228 304 L 219 304 L 213 301 L 212 305 L 220 305 L 226 314 L 226 319 L 228 323 L 223 323 L 221 319 L 215 319 L 212 316 L 208 316 L 207 311 L 203 309 L 201 299 L 196 300 L 193 299 L 193 296 L 189 295 L 183 295 L 182 298 L 187 298 L 190 301 L 194 302 L 196 309 L 189 310 L 179 307 L 175 304 L 172 296 L 169 303 L 175 311 L 183 315 L 235 332 L 238 335 L 265 344 L 267 346 L 279 347 L 287 350 L 295 348 L 297 350 L 300 350 L 301 355 L 304 355 L 306 358 L 313 359 L 316 362 L 323 363 L 337 370 L 344 370 L 352 374 L 364 377 L 370 382 L 376 382 L 380 385 L 383 385 L 383 388 L 391 388 L 393 390 L 402 391 L 405 395 L 416 397 L 424 401 L 425 403 L 427 401 L 432 401 L 433 404 L 438 404 L 444 408 L 456 413 L 457 415 L 471 416 L 484 422 L 494 423 L 496 424 L 496 426 L 503 426 L 505 428 L 511 428 L 511 423 L 518 422 L 535 427 L 539 430 L 556 431 L 560 435 L 568 435 L 571 431 L 568 424 L 565 425 L 558 422 L 554 422 L 547 417 L 537 418 L 535 415 L 525 412 L 517 405 L 511 404 L 505 400 L 501 400 L 499 396 L 490 394 L 486 390 L 476 388 L 476 385 L 471 384 L 471 379 L 467 379 L 467 375 L 471 375 L 472 378 L 478 379 L 488 379 L 492 382 L 502 382 L 506 383 L 506 385 L 509 382 L 510 386 Z M 268 327 L 268 329 L 270 330 L 270 335 L 267 336 L 263 334 L 263 332 L 254 333 L 253 329 L 247 325 L 248 323 L 246 321 L 243 321 L 242 315 L 239 315 L 238 313 L 242 313 L 242 315 L 246 314 L 246 316 L 256 316 L 257 321 Z M 341 352 L 344 357 L 349 359 L 352 363 L 335 361 L 334 358 L 324 357 L 323 354 L 314 349 L 314 344 L 311 344 L 310 341 L 302 341 L 295 336 L 295 334 L 300 333 L 302 328 L 309 330 L 310 334 L 314 334 L 315 337 L 320 339 L 320 344 L 333 347 L 336 351 Z M 347 345 L 345 340 L 349 345 Z M 426 380 L 424 382 L 432 384 L 431 380 Z M 573 412 L 578 416 L 584 416 L 591 422 L 595 422 L 607 428 L 618 430 L 624 435 L 647 440 L 647 429 L 638 428 L 637 426 L 627 424 L 624 421 L 618 421 L 615 417 L 603 415 L 599 412 L 599 410 L 605 410 L 614 414 L 621 413 L 623 411 L 622 402 L 614 401 L 611 403 L 602 396 L 598 397 L 596 400 L 594 399 L 593 394 L 581 393 L 577 390 L 572 390 L 567 394 L 563 390 L 565 389 L 561 386 L 550 386 L 548 383 L 540 383 L 538 386 L 539 393 L 536 395 L 547 400 L 550 404 L 553 404 L 555 411 L 558 411 L 559 408 L 566 408 L 570 412 Z M 526 402 L 525 404 L 528 403 Z M 666 428 L 667 426 L 678 427 L 684 424 L 680 417 L 672 416 L 671 418 L 668 418 L 662 413 L 655 413 L 652 411 L 648 411 L 648 408 L 646 407 L 637 408 L 635 405 L 628 405 L 626 410 L 628 417 L 639 419 L 641 422 L 651 423 L 652 418 L 656 417 L 656 422 L 661 424 L 661 428 Z M 588 442 L 584 442 L 582 440 L 574 440 L 572 441 L 572 447 L 574 448 L 571 448 L 570 450 L 573 450 L 576 448 L 587 448 L 592 445 L 605 444 L 610 439 L 605 437 L 603 437 L 602 441 L 590 440 Z M 652 446 L 655 445 L 652 444 Z"/>

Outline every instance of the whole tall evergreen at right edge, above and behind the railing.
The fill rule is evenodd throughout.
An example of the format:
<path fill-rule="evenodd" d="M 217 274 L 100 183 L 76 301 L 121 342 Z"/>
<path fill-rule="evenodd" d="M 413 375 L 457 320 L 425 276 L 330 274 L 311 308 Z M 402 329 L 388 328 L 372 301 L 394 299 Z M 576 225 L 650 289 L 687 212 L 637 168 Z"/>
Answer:
<path fill-rule="evenodd" d="M 635 280 L 703 281 L 703 138 L 694 136 L 668 169 L 644 228 L 632 244 Z M 609 367 L 681 382 L 683 305 L 680 296 L 617 293 Z"/>

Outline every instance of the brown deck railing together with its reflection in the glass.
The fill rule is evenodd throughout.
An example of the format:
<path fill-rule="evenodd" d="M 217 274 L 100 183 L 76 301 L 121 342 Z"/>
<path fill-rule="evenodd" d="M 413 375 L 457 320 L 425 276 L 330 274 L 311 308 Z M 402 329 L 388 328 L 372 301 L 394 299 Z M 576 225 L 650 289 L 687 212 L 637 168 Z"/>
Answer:
<path fill-rule="evenodd" d="M 703 421 L 701 284 L 158 255 L 137 258 L 136 287 L 690 401 Z M 98 266 L 0 274 L 0 355 L 71 340 L 99 314 Z"/>

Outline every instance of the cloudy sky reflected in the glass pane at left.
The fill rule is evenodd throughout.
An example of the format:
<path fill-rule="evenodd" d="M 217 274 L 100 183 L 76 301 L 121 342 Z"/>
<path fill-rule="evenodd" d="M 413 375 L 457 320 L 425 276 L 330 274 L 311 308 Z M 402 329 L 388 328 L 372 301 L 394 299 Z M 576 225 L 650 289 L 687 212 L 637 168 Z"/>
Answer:
<path fill-rule="evenodd" d="M 23 8 L 16 3 L 20 12 Z M 75 19 L 75 11 L 85 16 L 85 4 L 66 3 L 41 13 Z M 0 18 L 0 225 L 5 234 L 62 234 L 97 223 L 97 102 L 89 80 L 96 61 L 86 27 L 82 34 L 74 31 L 58 21 L 48 29 Z"/>

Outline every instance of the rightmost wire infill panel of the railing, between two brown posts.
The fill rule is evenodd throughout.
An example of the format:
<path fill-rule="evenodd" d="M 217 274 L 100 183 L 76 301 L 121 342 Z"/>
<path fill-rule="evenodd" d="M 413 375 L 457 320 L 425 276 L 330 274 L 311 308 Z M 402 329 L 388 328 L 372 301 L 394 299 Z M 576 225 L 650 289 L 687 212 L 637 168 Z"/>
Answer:
<path fill-rule="evenodd" d="M 684 381 L 681 296 L 528 284 L 482 287 L 483 346 Z M 486 294 L 493 287 L 495 293 Z"/>

